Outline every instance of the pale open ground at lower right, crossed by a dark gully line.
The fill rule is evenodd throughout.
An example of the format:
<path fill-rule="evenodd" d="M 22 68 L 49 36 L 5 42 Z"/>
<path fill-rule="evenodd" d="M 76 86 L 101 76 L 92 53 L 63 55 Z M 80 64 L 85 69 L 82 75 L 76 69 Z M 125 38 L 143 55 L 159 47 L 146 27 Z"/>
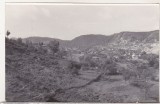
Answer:
<path fill-rule="evenodd" d="M 75 83 L 78 86 L 85 85 L 98 75 L 98 72 L 92 70 L 81 71 L 75 78 Z M 130 85 L 121 75 L 111 75 L 83 87 L 73 85 L 75 88 L 58 94 L 55 98 L 67 102 L 157 102 L 154 97 L 158 94 L 158 82 L 150 81 L 148 84 L 151 87 L 145 96 L 144 89 Z"/>

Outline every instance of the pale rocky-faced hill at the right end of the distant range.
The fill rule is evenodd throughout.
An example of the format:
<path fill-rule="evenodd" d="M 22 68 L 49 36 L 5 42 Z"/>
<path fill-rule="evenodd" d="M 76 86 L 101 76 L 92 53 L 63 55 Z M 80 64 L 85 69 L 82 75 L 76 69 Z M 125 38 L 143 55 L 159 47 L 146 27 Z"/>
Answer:
<path fill-rule="evenodd" d="M 159 41 L 159 31 L 149 32 L 120 32 L 111 36 L 111 43 L 123 43 L 124 41 L 136 43 L 154 43 Z"/>

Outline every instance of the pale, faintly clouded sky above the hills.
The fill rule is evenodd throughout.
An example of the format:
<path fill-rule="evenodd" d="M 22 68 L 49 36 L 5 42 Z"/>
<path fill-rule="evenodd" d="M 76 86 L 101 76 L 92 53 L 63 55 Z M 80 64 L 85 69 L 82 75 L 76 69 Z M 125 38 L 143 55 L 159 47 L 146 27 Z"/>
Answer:
<path fill-rule="evenodd" d="M 80 35 L 159 30 L 156 4 L 6 5 L 11 37 L 71 40 Z"/>

